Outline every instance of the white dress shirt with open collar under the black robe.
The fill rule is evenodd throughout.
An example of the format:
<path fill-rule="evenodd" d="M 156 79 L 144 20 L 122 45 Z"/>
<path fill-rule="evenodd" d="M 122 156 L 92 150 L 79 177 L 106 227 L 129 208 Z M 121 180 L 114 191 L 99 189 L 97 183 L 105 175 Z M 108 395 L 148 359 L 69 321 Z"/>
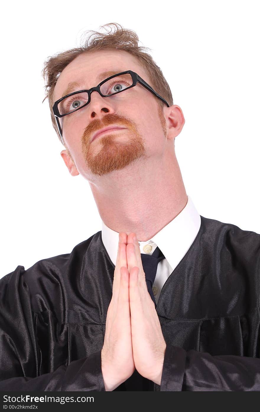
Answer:
<path fill-rule="evenodd" d="M 152 255 L 158 246 L 165 259 L 159 262 L 156 276 L 153 283 L 153 293 L 156 304 L 161 293 L 161 289 L 174 271 L 175 267 L 182 260 L 184 255 L 191 247 L 200 229 L 200 215 L 189 195 L 188 201 L 182 211 L 171 221 L 164 226 L 160 232 L 156 233 L 152 239 L 145 242 L 139 242 L 140 253 Z M 110 229 L 102 222 L 102 242 L 113 264 L 117 260 L 117 248 L 119 241 L 119 233 Z M 134 232 L 134 231 L 133 231 Z"/>

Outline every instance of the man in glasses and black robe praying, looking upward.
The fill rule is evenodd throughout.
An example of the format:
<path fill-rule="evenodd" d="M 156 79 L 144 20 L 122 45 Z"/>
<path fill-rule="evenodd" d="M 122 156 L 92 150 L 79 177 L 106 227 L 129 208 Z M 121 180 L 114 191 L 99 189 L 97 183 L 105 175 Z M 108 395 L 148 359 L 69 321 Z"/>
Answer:
<path fill-rule="evenodd" d="M 260 235 L 198 214 L 175 157 L 182 110 L 116 28 L 44 68 L 102 231 L 1 279 L 0 389 L 259 390 Z"/>

